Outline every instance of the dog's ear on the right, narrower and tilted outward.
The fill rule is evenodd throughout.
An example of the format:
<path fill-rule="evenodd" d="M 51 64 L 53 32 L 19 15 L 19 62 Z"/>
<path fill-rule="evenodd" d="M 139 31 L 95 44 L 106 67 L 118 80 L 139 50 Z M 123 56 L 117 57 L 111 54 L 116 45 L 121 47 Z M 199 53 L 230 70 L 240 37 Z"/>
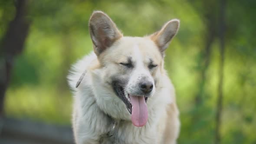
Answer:
<path fill-rule="evenodd" d="M 169 46 L 171 39 L 176 35 L 180 26 L 180 20 L 170 20 L 164 24 L 162 29 L 153 33 L 150 38 L 156 43 L 160 52 L 164 55 L 165 49 Z"/>

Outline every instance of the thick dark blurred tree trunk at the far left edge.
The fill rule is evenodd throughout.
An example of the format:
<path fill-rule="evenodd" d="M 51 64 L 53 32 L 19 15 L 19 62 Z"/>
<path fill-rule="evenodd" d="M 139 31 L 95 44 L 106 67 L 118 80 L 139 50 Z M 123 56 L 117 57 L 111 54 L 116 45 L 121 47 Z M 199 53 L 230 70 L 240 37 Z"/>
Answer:
<path fill-rule="evenodd" d="M 1 42 L 0 57 L 0 117 L 3 116 L 4 95 L 10 81 L 15 56 L 23 51 L 30 23 L 26 21 L 27 0 L 16 1 L 16 14 Z"/>

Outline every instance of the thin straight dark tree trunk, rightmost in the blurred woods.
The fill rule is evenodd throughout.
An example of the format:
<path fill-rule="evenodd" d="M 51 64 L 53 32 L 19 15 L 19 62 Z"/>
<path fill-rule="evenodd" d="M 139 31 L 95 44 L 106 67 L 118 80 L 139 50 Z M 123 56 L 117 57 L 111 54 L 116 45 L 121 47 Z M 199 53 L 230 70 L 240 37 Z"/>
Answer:
<path fill-rule="evenodd" d="M 216 113 L 216 131 L 215 144 L 220 144 L 220 126 L 221 112 L 223 99 L 223 68 L 224 68 L 224 50 L 225 50 L 225 6 L 226 1 L 220 0 L 220 20 L 219 20 L 219 39 L 220 39 L 220 69 L 219 69 L 219 85 L 217 98 L 217 113 Z"/>

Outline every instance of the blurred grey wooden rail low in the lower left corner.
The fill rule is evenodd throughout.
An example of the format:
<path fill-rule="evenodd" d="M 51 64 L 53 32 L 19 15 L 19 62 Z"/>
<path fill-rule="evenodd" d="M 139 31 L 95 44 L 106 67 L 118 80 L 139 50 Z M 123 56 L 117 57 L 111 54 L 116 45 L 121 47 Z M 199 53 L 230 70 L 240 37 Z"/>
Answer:
<path fill-rule="evenodd" d="M 74 144 L 74 142 L 70 127 L 2 118 L 0 144 Z"/>

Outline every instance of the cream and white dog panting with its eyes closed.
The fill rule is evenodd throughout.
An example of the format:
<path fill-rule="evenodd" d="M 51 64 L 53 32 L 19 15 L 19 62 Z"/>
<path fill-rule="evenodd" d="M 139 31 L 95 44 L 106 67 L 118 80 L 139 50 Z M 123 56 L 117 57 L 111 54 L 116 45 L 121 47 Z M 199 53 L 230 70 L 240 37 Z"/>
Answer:
<path fill-rule="evenodd" d="M 174 19 L 156 33 L 129 37 L 107 14 L 92 13 L 94 52 L 68 75 L 76 144 L 176 144 L 179 111 L 164 51 L 179 25 Z"/>

